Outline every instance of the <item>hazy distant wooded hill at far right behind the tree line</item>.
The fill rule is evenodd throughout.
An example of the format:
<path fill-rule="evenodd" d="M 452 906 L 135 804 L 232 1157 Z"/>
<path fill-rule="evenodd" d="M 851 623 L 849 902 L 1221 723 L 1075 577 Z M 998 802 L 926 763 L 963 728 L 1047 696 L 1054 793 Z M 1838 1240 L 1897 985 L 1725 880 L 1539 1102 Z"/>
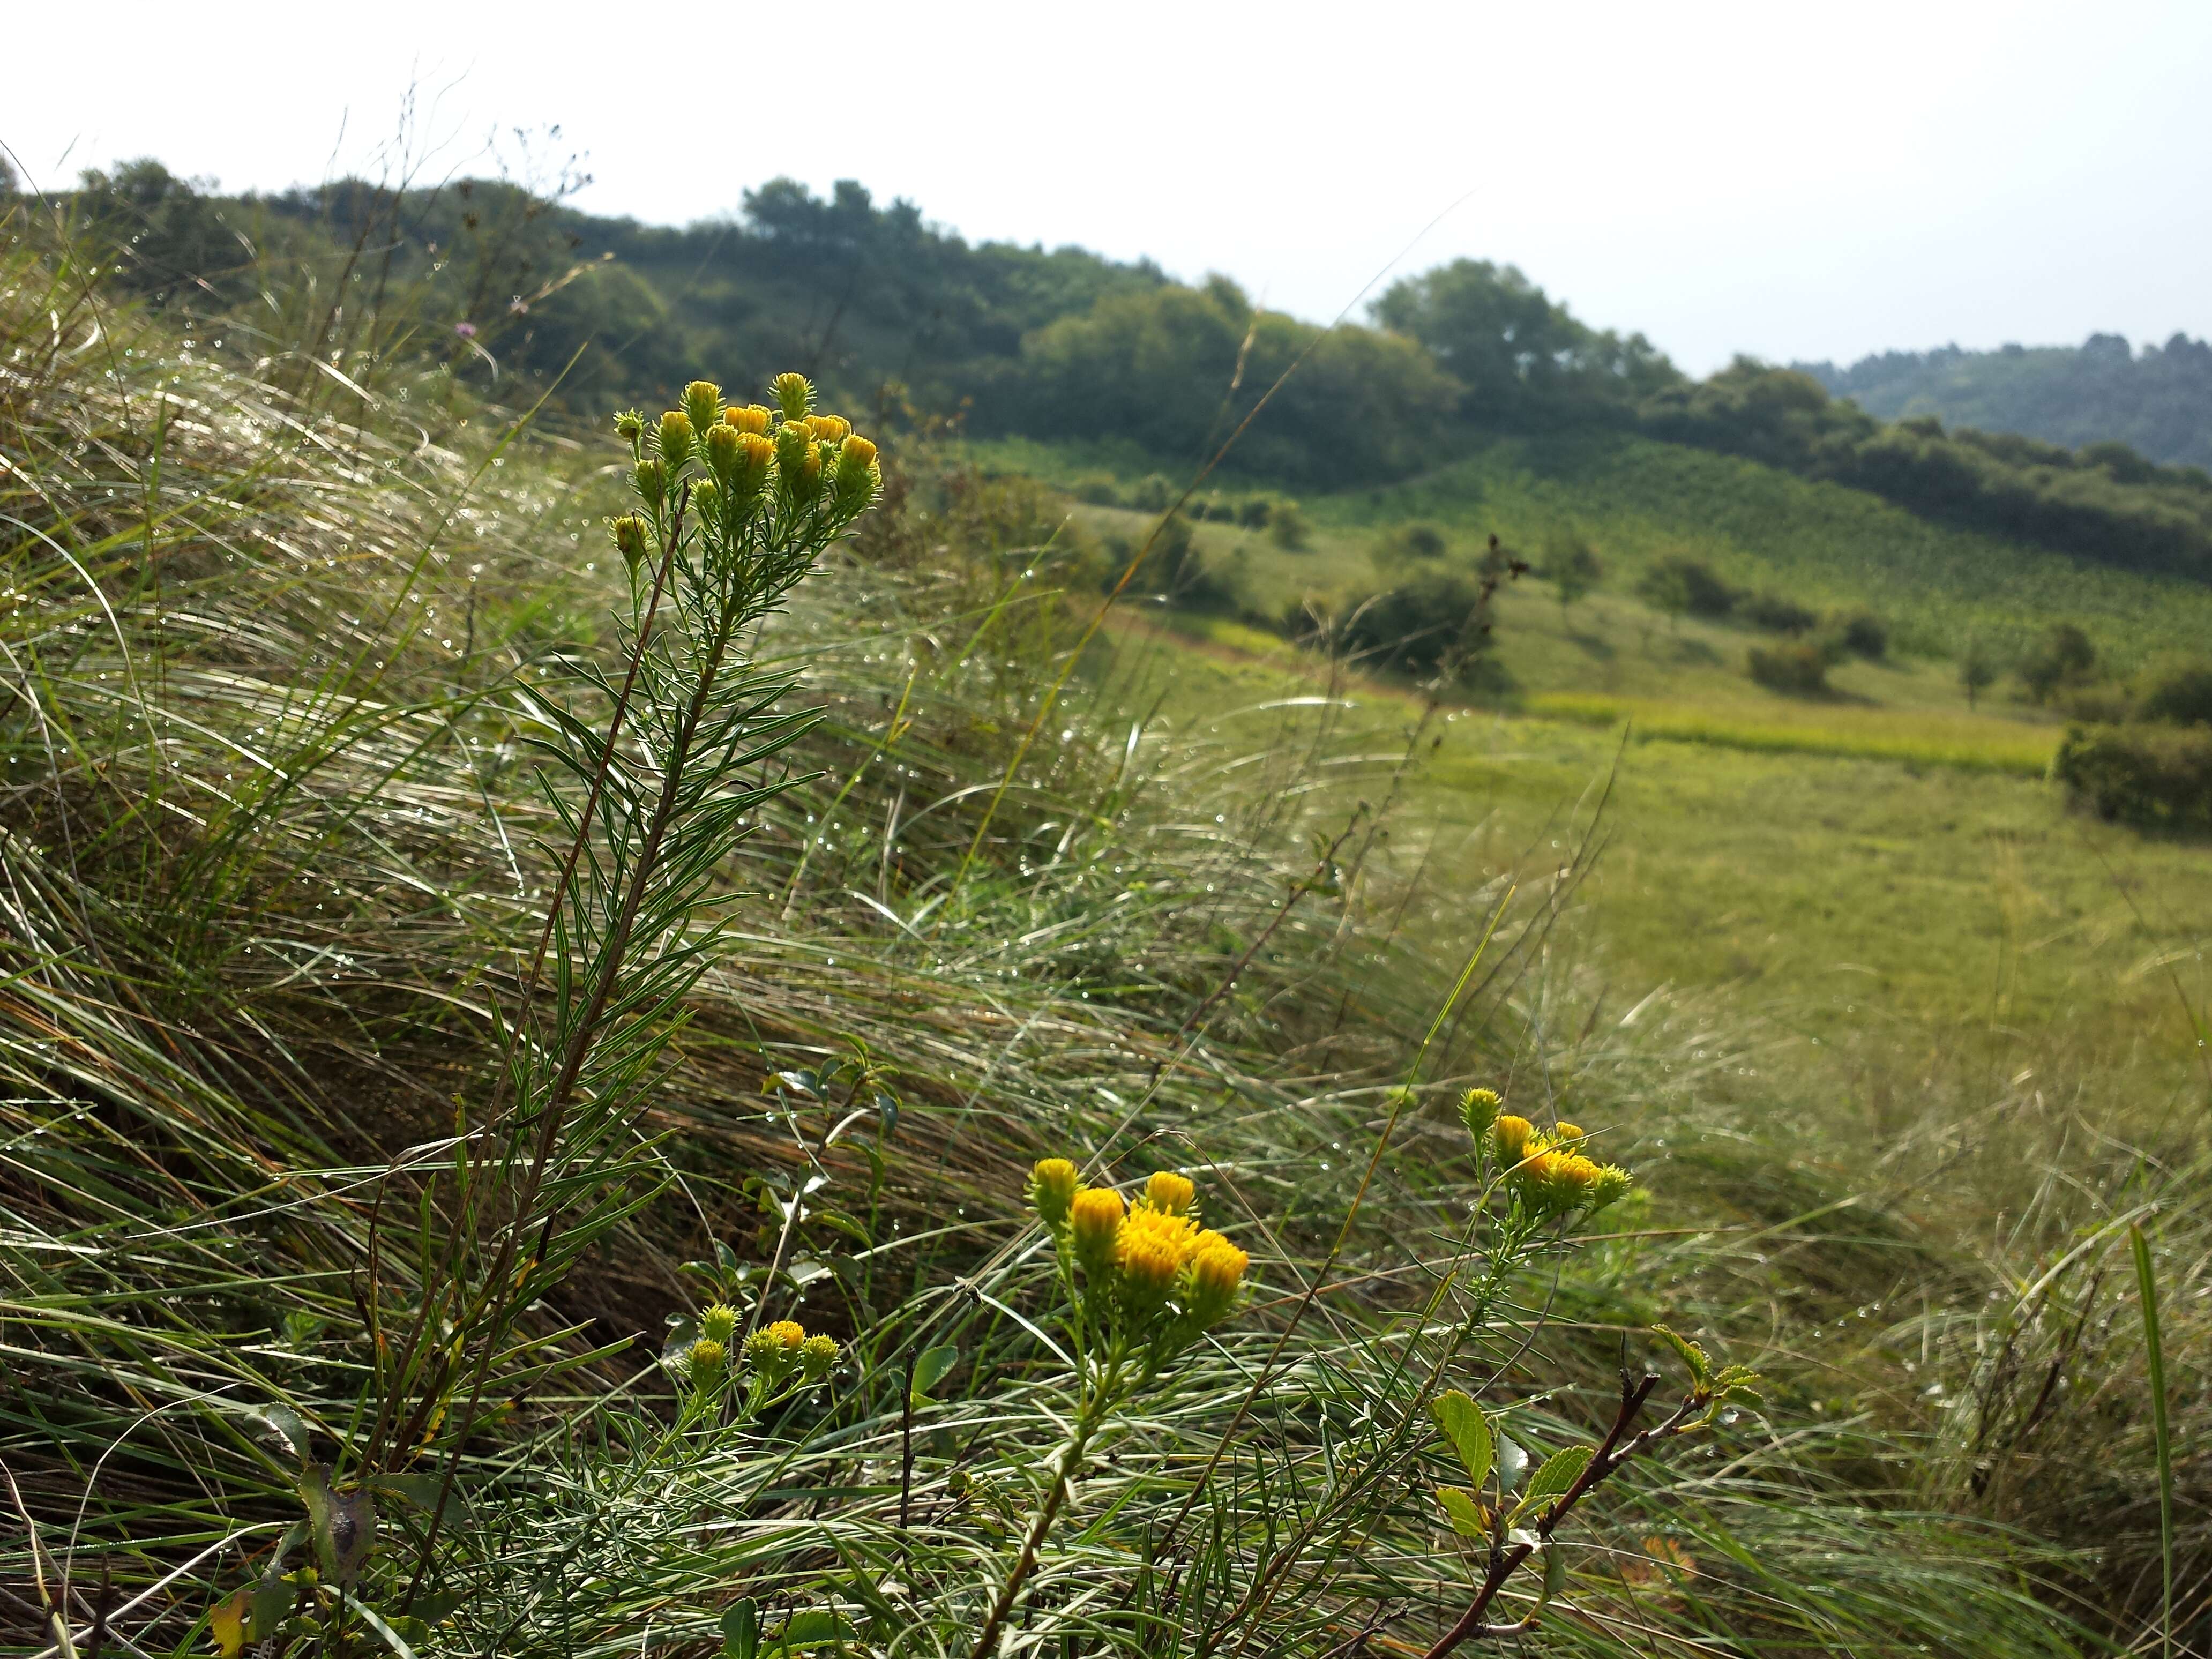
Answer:
<path fill-rule="evenodd" d="M 1863 356 L 1847 369 L 1792 367 L 1882 420 L 1936 416 L 2068 449 L 2124 442 L 2152 460 L 2212 469 L 2212 345 L 2188 334 L 2141 349 L 2090 334 L 2081 345 L 1944 345 Z"/>

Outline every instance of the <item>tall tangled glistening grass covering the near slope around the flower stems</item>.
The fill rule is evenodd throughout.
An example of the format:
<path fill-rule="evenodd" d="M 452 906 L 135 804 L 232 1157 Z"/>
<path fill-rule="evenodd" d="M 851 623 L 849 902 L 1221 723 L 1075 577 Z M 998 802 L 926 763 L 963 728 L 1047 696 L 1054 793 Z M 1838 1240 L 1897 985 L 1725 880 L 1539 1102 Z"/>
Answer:
<path fill-rule="evenodd" d="M 1013 1644 L 1318 1655 L 1537 1608 L 1588 1652 L 2066 1650 L 1973 1528 L 1838 1484 L 1856 1431 L 1723 1409 L 1686 1473 L 1615 1455 L 1646 1360 L 1725 1405 L 1644 1332 L 1721 1334 L 1721 1301 L 1683 1321 L 1697 1245 L 1566 1201 L 1601 1164 L 1540 1082 L 1467 1091 L 1546 905 L 1462 900 L 1440 982 L 1358 781 L 1316 787 L 1327 732 L 1124 714 L 1068 661 L 1048 526 L 920 476 L 845 551 L 748 542 L 754 447 L 692 449 L 763 438 L 799 524 L 821 495 L 768 480 L 860 453 L 799 387 L 739 420 L 695 387 L 595 462 L 186 367 L 9 259 L 31 1650 L 969 1652 L 995 1610 Z M 644 524 L 604 540 L 617 509 Z M 1694 1117 L 1619 1104 L 1593 1150 L 1719 1186 Z M 1141 1389 L 1055 1318 L 1128 1365 L 1139 1316 L 1203 1323 L 1203 1250 L 1152 1241 L 1190 1245 L 1155 1307 L 1119 1230 L 1086 1261 L 1024 1217 L 1040 1155 L 1170 1217 L 1157 1177 L 1199 1170 L 1203 1250 L 1248 1256 Z"/>

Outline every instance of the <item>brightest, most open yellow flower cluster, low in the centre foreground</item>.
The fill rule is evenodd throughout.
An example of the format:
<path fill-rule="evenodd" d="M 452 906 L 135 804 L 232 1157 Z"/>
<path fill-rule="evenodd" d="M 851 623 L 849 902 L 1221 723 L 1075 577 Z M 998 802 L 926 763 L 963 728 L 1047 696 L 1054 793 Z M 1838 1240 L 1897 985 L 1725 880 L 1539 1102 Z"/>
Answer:
<path fill-rule="evenodd" d="M 1110 1186 L 1084 1186 L 1064 1157 L 1029 1172 L 1029 1201 L 1064 1259 L 1082 1270 L 1093 1316 L 1119 1323 L 1128 1336 L 1172 1329 L 1188 1340 L 1237 1303 L 1252 1259 L 1199 1225 L 1197 1197 L 1192 1179 L 1175 1170 L 1155 1172 L 1135 1206 Z M 1172 1325 L 1164 1318 L 1170 1307 Z"/>

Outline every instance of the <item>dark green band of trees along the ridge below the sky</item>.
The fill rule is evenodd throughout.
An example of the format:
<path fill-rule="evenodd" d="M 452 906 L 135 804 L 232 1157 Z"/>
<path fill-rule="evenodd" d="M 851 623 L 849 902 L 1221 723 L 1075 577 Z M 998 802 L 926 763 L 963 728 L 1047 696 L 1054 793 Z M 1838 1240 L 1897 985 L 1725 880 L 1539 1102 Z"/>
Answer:
<path fill-rule="evenodd" d="M 741 383 L 799 363 L 847 405 L 900 385 L 980 431 L 1121 438 L 1177 460 L 1250 420 L 1239 467 L 1318 489 L 1433 467 L 1475 429 L 1610 425 L 2084 557 L 2212 571 L 2199 469 L 2119 442 L 1882 425 L 1814 376 L 1750 361 L 1688 380 L 1513 265 L 1460 259 L 1391 285 L 1376 327 L 1316 327 L 1223 276 L 1183 285 L 1077 248 L 971 246 L 854 181 L 818 197 L 774 179 L 681 230 L 577 212 L 582 181 L 551 159 L 429 190 L 349 179 L 237 199 L 137 161 L 86 175 L 75 206 L 157 299 L 250 307 L 268 261 L 305 265 L 334 307 L 374 299 L 354 310 L 416 319 L 425 349 L 465 372 L 566 376 L 591 407 L 664 400 L 701 361 Z"/>

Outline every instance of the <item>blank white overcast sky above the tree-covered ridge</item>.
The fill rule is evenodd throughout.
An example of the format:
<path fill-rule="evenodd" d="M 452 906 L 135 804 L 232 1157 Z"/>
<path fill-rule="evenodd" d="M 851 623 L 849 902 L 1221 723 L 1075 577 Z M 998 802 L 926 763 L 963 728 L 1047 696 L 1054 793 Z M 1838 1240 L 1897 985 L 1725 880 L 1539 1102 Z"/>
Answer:
<path fill-rule="evenodd" d="M 447 166 L 557 122 L 595 212 L 854 177 L 1314 319 L 1471 254 L 1699 372 L 2212 334 L 2212 0 L 0 13 L 0 142 L 40 184 L 135 155 L 316 181 L 369 166 L 416 86 Z"/>

